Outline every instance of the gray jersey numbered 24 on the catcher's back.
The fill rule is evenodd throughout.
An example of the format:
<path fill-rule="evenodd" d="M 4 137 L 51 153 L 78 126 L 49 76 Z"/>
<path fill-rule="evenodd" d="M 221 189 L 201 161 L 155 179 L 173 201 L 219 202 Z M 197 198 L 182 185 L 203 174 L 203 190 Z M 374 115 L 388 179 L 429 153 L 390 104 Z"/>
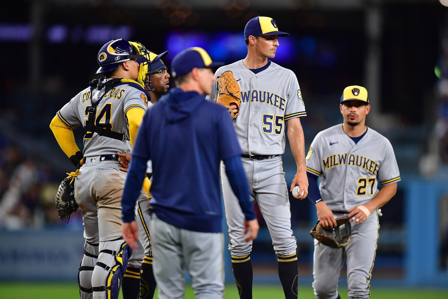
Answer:
<path fill-rule="evenodd" d="M 94 89 L 92 99 L 100 97 L 104 90 Z M 141 108 L 146 110 L 148 106 L 146 95 L 135 87 L 127 84 L 112 87 L 96 109 L 95 124 L 125 134 L 125 141 L 99 136 L 96 133 L 87 132 L 84 135 L 84 156 L 97 156 L 106 154 L 116 154 L 116 152 L 130 152 L 129 124 L 126 112 L 130 108 Z M 79 125 L 85 126 L 87 121 L 87 110 L 91 107 L 90 87 L 84 89 L 73 97 L 69 103 L 65 104 L 58 113 L 60 121 L 71 128 Z"/>

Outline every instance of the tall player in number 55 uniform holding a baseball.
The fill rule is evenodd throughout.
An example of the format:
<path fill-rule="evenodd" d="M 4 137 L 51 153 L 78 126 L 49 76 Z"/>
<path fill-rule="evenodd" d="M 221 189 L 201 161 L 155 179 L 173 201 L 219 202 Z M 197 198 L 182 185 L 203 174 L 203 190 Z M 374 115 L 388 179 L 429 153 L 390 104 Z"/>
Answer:
<path fill-rule="evenodd" d="M 305 143 L 300 117 L 306 116 L 302 93 L 293 71 L 268 61 L 279 46 L 280 32 L 270 17 L 254 17 L 244 29 L 247 56 L 218 69 L 216 76 L 231 70 L 241 88 L 240 112 L 234 127 L 243 150 L 242 162 L 249 180 L 252 200 L 256 200 L 271 234 L 278 256 L 278 269 L 286 298 L 297 298 L 296 238 L 291 230 L 288 186 L 284 179 L 281 154 L 285 147 L 285 124 L 297 163 L 291 190 L 299 184 L 299 194 L 308 191 Z M 216 88 L 211 98 L 216 98 Z M 221 168 L 225 213 L 232 254 L 232 268 L 240 298 L 252 298 L 252 242 L 241 233 L 243 214 Z"/>

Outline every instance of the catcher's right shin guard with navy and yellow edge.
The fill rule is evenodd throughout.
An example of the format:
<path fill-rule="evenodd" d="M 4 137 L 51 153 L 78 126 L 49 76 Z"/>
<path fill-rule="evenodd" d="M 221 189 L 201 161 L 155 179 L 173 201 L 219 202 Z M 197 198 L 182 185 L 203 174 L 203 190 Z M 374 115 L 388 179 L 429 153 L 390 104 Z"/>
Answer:
<path fill-rule="evenodd" d="M 99 251 L 92 275 L 94 298 L 117 299 L 132 249 L 122 238 L 100 245 L 105 249 Z"/>

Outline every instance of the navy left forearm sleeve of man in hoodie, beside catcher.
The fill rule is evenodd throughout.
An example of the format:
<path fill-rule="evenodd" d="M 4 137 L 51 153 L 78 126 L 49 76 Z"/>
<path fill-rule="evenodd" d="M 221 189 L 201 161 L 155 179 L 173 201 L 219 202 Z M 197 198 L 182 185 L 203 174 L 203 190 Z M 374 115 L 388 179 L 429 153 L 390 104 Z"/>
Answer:
<path fill-rule="evenodd" d="M 142 190 L 143 179 L 146 176 L 146 160 L 133 156 L 129 164 L 128 176 L 121 199 L 121 218 L 123 222 L 135 220 L 135 203 Z"/>

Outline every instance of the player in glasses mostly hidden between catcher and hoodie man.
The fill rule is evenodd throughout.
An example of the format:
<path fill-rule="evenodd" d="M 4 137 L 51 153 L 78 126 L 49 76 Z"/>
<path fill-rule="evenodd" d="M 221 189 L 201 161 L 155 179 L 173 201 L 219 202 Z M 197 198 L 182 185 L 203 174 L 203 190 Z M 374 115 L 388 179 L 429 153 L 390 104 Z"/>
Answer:
<path fill-rule="evenodd" d="M 138 82 L 142 82 L 146 91 L 151 95 L 151 107 L 161 95 L 168 92 L 168 83 L 170 75 L 168 68 L 162 61 L 168 51 L 157 55 L 148 51 L 151 64 L 142 62 L 139 69 Z M 140 62 L 140 60 L 138 60 Z M 130 153 L 119 154 L 121 170 L 127 171 Z M 151 161 L 148 161 L 151 166 Z M 146 173 L 152 173 L 152 169 L 146 170 Z M 149 197 L 151 197 L 149 195 Z M 123 299 L 152 299 L 156 287 L 156 282 L 152 270 L 152 251 L 151 251 L 151 235 L 150 235 L 150 205 L 148 196 L 139 196 L 136 205 L 136 218 L 138 225 L 137 248 L 133 250 L 129 259 L 128 268 L 123 277 Z M 138 295 L 140 293 L 140 295 Z"/>

